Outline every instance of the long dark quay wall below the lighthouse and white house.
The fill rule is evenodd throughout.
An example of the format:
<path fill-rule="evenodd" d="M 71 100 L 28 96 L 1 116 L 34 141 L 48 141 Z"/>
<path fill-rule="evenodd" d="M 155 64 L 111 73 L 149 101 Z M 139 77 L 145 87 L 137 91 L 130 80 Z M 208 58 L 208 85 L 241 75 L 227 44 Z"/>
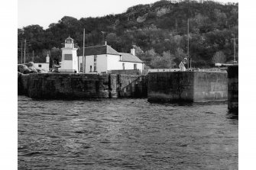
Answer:
<path fill-rule="evenodd" d="M 147 97 L 143 75 L 18 73 L 18 95 L 38 99 Z"/>

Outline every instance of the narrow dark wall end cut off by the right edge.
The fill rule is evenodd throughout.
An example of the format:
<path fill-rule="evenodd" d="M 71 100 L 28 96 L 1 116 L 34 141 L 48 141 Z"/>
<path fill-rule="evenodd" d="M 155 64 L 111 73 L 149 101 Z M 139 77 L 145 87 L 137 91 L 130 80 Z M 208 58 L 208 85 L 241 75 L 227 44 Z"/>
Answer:
<path fill-rule="evenodd" d="M 238 112 L 238 66 L 228 66 L 228 110 Z"/>

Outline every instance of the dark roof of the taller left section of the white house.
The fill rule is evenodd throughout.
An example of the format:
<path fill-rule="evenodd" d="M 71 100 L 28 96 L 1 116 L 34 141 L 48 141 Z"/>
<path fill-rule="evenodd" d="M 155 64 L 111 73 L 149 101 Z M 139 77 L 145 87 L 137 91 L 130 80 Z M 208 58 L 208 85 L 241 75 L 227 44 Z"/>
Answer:
<path fill-rule="evenodd" d="M 112 47 L 108 45 L 85 47 L 85 56 L 100 55 L 100 54 L 112 54 L 112 55 L 120 56 L 120 54 L 116 50 L 114 50 Z"/>

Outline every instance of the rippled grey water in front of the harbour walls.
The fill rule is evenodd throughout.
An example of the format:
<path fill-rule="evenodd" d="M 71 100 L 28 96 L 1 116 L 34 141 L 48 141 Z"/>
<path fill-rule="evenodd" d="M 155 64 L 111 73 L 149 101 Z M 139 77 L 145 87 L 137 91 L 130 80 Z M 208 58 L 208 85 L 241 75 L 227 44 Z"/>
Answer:
<path fill-rule="evenodd" d="M 18 169 L 238 169 L 227 103 L 18 96 Z"/>

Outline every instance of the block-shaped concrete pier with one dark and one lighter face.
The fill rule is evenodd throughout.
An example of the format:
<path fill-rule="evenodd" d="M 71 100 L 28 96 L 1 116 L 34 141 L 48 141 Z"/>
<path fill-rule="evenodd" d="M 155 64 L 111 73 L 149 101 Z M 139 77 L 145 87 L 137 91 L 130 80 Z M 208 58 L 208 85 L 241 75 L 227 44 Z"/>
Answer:
<path fill-rule="evenodd" d="M 227 74 L 220 72 L 149 72 L 148 101 L 227 100 Z"/>

